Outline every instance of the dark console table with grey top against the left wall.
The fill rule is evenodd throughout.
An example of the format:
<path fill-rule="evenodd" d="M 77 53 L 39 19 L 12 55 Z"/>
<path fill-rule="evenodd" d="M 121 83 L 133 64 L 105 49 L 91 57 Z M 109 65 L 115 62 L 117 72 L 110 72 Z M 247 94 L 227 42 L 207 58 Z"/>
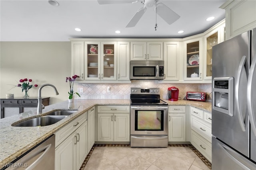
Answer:
<path fill-rule="evenodd" d="M 44 106 L 49 105 L 50 97 L 42 97 L 42 104 Z M 30 107 L 37 107 L 38 98 L 32 97 L 29 99 L 20 98 L 13 98 L 13 99 L 0 99 L 1 104 L 1 119 L 4 117 L 16 115 L 25 111 L 28 111 Z"/>

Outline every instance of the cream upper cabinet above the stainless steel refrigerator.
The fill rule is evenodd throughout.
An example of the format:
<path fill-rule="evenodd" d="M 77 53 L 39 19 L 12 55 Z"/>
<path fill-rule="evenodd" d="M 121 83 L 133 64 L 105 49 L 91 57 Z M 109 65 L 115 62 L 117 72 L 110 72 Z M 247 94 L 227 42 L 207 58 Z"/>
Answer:
<path fill-rule="evenodd" d="M 227 0 L 220 8 L 226 10 L 226 40 L 256 27 L 255 0 Z"/>

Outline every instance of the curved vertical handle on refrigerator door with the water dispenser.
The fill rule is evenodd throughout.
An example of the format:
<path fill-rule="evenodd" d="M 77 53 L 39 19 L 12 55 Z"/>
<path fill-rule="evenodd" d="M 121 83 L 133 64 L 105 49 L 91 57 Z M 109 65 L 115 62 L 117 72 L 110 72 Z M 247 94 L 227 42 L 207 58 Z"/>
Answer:
<path fill-rule="evenodd" d="M 242 129 L 242 131 L 245 131 L 245 124 L 244 124 L 244 120 L 243 120 L 243 117 L 242 117 L 242 113 L 241 113 L 241 110 L 240 110 L 240 104 L 239 104 L 239 82 L 240 82 L 240 78 L 241 78 L 241 73 L 242 73 L 242 69 L 244 68 L 244 64 L 246 62 L 246 56 L 243 56 L 241 61 L 240 61 L 240 64 L 238 66 L 238 74 L 237 74 L 237 79 L 236 79 L 236 87 L 235 87 L 235 94 L 237 95 L 234 95 L 235 96 L 235 102 L 236 102 L 236 106 L 237 106 L 237 111 L 238 111 L 238 121 L 239 121 L 239 124 L 240 124 L 240 127 Z"/>

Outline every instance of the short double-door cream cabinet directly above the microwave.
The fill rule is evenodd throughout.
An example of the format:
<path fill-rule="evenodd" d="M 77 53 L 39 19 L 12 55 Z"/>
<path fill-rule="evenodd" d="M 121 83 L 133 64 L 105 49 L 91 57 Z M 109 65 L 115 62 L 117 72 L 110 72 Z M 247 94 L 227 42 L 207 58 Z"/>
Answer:
<path fill-rule="evenodd" d="M 163 42 L 132 41 L 130 60 L 163 60 Z"/>

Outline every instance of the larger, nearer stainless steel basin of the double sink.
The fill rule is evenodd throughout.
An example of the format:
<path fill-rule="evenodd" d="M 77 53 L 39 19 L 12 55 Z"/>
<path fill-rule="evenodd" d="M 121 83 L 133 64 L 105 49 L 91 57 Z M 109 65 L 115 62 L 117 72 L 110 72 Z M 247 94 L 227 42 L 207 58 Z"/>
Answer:
<path fill-rule="evenodd" d="M 32 119 L 28 119 L 26 121 L 22 121 L 16 125 L 16 127 L 35 127 L 35 126 L 48 126 L 52 125 L 54 123 L 57 123 L 58 121 L 64 119 L 65 117 L 68 117 L 68 115 L 46 115 L 41 117 L 35 117 Z"/>

